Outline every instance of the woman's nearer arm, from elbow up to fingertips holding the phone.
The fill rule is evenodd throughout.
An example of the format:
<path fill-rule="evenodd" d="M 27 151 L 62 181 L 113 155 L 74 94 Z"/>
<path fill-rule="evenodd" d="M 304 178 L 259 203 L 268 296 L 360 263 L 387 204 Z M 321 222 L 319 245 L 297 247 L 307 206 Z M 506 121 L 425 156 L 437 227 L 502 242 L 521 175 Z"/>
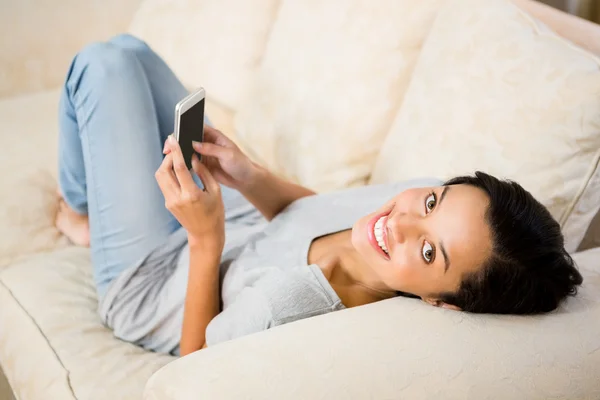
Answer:
<path fill-rule="evenodd" d="M 172 135 L 167 142 L 169 151 L 155 175 L 167 209 L 188 234 L 190 268 L 180 341 L 180 353 L 186 355 L 205 347 L 206 327 L 219 313 L 225 209 L 221 186 L 198 156 L 192 156 L 192 167 L 204 190 L 194 182 Z"/>

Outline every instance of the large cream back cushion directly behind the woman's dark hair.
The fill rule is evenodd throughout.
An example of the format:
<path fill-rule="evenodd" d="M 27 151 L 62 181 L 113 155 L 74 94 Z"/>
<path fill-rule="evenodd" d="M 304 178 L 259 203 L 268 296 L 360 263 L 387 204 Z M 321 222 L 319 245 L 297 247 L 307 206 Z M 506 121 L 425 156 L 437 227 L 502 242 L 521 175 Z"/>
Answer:
<path fill-rule="evenodd" d="M 440 10 L 372 183 L 475 170 L 544 203 L 575 251 L 600 207 L 600 60 L 508 0 Z"/>

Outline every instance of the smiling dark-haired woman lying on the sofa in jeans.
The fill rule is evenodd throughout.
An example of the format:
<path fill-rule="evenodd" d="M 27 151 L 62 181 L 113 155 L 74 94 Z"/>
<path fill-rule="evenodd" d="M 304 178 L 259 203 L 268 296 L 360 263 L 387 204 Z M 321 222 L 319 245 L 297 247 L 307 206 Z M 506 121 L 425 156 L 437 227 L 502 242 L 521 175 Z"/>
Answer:
<path fill-rule="evenodd" d="M 315 195 L 207 127 L 192 174 L 168 136 L 186 94 L 128 35 L 87 46 L 67 75 L 56 224 L 91 245 L 117 337 L 188 354 L 399 294 L 537 313 L 582 282 L 548 211 L 484 173 Z"/>

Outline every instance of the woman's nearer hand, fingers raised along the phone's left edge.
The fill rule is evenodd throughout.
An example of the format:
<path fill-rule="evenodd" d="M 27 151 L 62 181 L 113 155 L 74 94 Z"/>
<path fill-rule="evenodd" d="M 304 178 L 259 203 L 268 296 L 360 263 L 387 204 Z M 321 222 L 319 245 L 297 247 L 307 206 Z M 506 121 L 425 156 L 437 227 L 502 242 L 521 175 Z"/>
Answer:
<path fill-rule="evenodd" d="M 192 168 L 202 180 L 205 190 L 196 185 L 185 165 L 179 143 L 172 135 L 165 143 L 165 153 L 167 155 L 155 177 L 165 197 L 166 208 L 186 229 L 190 247 L 209 247 L 220 255 L 225 244 L 225 209 L 221 187 L 194 154 Z"/>

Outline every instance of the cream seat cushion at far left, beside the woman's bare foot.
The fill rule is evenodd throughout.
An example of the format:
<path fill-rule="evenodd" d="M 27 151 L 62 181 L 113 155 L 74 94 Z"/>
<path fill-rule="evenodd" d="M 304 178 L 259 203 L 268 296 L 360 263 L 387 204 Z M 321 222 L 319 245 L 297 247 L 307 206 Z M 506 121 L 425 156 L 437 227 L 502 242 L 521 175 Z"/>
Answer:
<path fill-rule="evenodd" d="M 54 227 L 58 99 L 58 91 L 48 91 L 0 101 L 0 269 L 68 245 Z"/>

